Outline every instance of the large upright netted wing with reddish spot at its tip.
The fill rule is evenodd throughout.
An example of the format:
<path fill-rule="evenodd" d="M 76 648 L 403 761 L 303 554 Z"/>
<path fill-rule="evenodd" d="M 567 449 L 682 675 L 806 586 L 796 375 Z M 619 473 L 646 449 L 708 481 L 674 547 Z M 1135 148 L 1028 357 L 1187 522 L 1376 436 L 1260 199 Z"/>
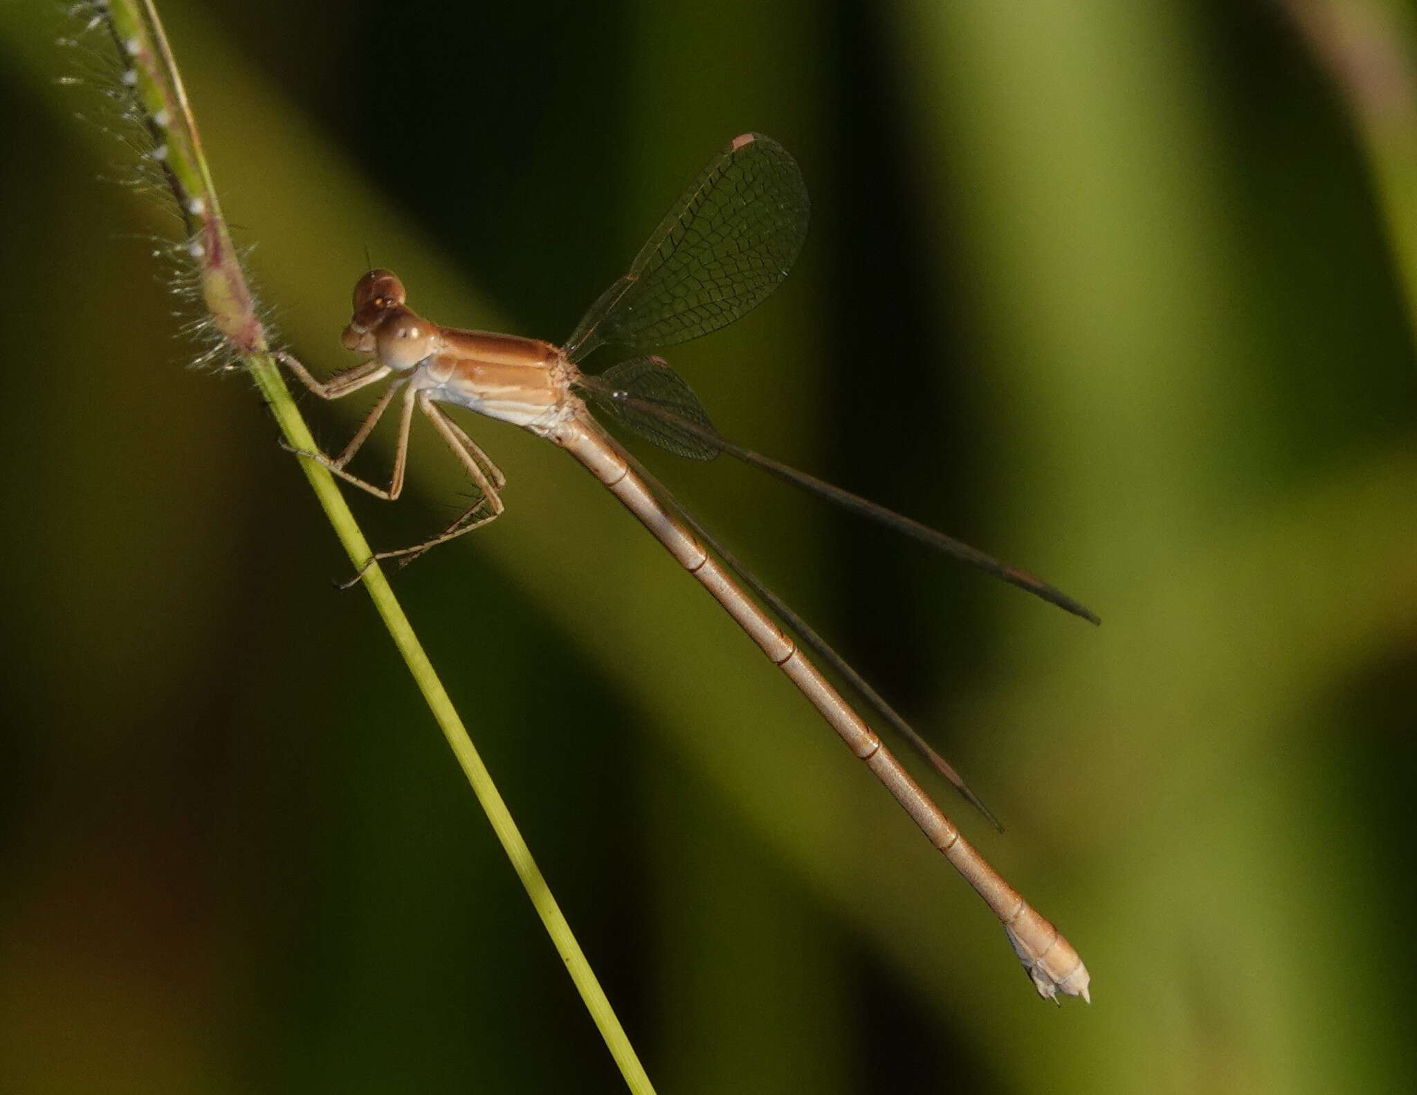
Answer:
<path fill-rule="evenodd" d="M 674 203 L 629 274 L 601 294 L 565 343 L 648 350 L 696 339 L 757 308 L 788 275 L 808 224 L 796 162 L 761 133 L 734 138 Z"/>

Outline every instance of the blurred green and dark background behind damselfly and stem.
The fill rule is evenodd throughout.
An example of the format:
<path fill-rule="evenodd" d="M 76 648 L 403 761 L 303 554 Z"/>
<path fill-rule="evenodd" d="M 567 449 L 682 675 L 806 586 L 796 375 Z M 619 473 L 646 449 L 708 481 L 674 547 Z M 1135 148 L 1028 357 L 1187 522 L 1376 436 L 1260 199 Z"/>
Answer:
<path fill-rule="evenodd" d="M 730 437 L 1104 618 L 646 454 L 1002 816 L 938 789 L 1084 955 L 1095 1003 L 1058 1010 L 609 495 L 469 423 L 507 513 L 395 587 L 662 1092 L 1410 1082 L 1417 373 L 1387 224 L 1417 194 L 1380 197 L 1326 24 L 1292 18 L 1369 9 L 1406 14 L 162 4 L 322 373 L 353 362 L 366 248 L 425 315 L 561 339 L 714 150 L 774 135 L 803 258 L 676 366 Z M 622 1089 L 251 386 L 183 367 L 197 312 L 152 255 L 176 218 L 122 184 L 108 43 L 54 45 L 79 28 L 0 6 L 0 1091 Z M 303 406 L 329 445 L 359 413 Z M 405 499 L 354 506 L 397 546 L 461 489 L 421 431 Z"/>

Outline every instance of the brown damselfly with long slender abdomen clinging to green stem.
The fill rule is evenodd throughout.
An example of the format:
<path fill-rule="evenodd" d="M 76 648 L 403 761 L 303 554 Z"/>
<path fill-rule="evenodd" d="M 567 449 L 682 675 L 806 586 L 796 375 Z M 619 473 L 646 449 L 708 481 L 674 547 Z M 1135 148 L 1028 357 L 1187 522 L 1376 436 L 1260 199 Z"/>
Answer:
<path fill-rule="evenodd" d="M 999 918 L 1037 991 L 1046 999 L 1056 999 L 1058 993 L 1090 999 L 1087 967 L 1067 939 L 965 841 L 789 633 L 839 672 L 993 820 L 954 769 L 811 627 L 714 542 L 673 495 L 601 428 L 587 407 L 588 399 L 609 417 L 680 457 L 711 460 L 727 452 L 1097 623 L 1080 603 L 1027 572 L 727 441 L 713 427 L 689 384 L 663 359 L 649 355 L 649 350 L 727 326 L 757 308 L 786 277 L 802 248 L 806 226 L 806 186 L 796 162 L 771 138 L 744 133 L 684 191 L 635 257 L 629 272 L 589 308 L 564 346 L 432 323 L 405 305 L 404 285 L 394 274 L 371 269 L 354 287 L 354 313 L 343 335 L 346 349 L 373 355 L 370 360 L 320 382 L 295 357 L 282 355 L 281 359 L 306 387 L 324 399 L 341 399 L 380 380 L 395 379 L 339 457 L 303 455 L 378 498 L 397 499 L 404 487 L 408 437 L 417 410 L 461 460 L 476 485 L 476 505 L 424 543 L 380 552 L 370 560 L 373 566 L 378 559 L 411 559 L 472 532 L 503 511 L 504 477 L 439 404 L 513 423 L 564 448 L 708 590 L 886 784 L 931 844 Z M 599 374 L 582 373 L 578 363 L 602 345 L 638 356 Z M 384 488 L 351 475 L 346 465 L 400 391 L 394 469 Z M 786 630 L 774 623 L 740 582 L 777 613 Z"/>

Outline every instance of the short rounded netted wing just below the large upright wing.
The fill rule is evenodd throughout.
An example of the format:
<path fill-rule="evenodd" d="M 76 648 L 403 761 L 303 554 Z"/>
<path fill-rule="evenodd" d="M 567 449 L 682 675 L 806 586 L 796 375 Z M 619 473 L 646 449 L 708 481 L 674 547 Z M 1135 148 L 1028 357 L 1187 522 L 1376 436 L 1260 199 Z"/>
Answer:
<path fill-rule="evenodd" d="M 676 457 L 713 460 L 718 447 L 708 411 L 662 357 L 631 357 L 578 386 L 618 421 Z"/>

